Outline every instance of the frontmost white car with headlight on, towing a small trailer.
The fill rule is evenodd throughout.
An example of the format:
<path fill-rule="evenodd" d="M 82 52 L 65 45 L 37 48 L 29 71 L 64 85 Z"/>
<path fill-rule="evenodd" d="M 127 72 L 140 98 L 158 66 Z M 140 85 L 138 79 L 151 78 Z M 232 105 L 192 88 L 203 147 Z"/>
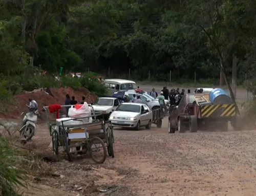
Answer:
<path fill-rule="evenodd" d="M 151 128 L 153 113 L 143 103 L 121 103 L 110 115 L 112 126 L 130 127 L 139 130 L 141 126 Z"/>

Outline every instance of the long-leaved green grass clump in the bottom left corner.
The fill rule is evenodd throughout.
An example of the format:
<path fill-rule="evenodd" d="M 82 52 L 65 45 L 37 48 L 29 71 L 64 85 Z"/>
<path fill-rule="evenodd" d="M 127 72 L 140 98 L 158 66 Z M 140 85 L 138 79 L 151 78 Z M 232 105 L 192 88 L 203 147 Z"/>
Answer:
<path fill-rule="evenodd" d="M 15 196 L 17 186 L 26 187 L 23 170 L 16 168 L 17 153 L 8 140 L 0 137 L 0 191 L 3 196 Z"/>

